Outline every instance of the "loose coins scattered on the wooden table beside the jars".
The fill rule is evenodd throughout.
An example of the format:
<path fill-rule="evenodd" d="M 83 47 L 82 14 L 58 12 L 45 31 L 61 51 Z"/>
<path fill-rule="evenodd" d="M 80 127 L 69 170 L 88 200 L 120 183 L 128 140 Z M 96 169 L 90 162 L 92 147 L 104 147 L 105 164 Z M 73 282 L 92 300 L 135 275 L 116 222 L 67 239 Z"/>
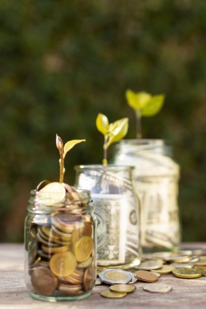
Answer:
<path fill-rule="evenodd" d="M 172 291 L 168 284 L 155 283 L 162 274 L 172 273 L 177 278 L 199 278 L 206 276 L 206 256 L 199 249 L 185 249 L 178 253 L 157 252 L 143 255 L 141 264 L 136 271 L 129 272 L 117 269 L 105 269 L 99 272 L 95 285 L 106 283 L 111 285 L 109 290 L 101 292 L 107 298 L 122 298 L 133 292 L 133 283 L 147 282 L 143 290 L 151 293 L 167 293 Z"/>

